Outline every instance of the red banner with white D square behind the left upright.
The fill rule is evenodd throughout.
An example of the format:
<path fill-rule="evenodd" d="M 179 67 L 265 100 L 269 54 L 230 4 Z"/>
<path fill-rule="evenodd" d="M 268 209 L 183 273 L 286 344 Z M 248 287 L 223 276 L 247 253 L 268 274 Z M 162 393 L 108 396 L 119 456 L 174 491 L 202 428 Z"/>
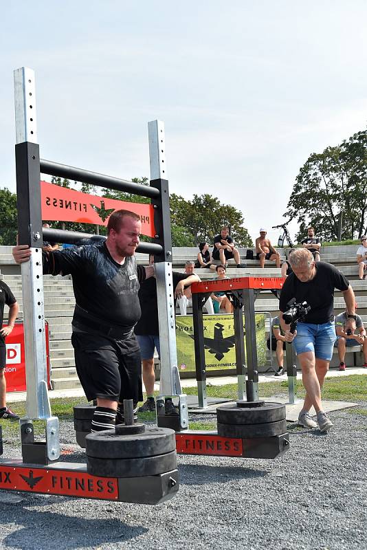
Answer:
<path fill-rule="evenodd" d="M 3 325 L 5 327 L 6 324 Z M 45 323 L 46 336 L 46 356 L 47 356 L 47 384 L 49 381 L 49 334 L 48 323 Z M 9 336 L 5 338 L 6 346 L 6 365 L 4 369 L 6 380 L 6 391 L 25 391 L 27 389 L 25 381 L 25 352 L 24 352 L 24 327 L 23 321 L 17 321 L 14 329 Z"/>

